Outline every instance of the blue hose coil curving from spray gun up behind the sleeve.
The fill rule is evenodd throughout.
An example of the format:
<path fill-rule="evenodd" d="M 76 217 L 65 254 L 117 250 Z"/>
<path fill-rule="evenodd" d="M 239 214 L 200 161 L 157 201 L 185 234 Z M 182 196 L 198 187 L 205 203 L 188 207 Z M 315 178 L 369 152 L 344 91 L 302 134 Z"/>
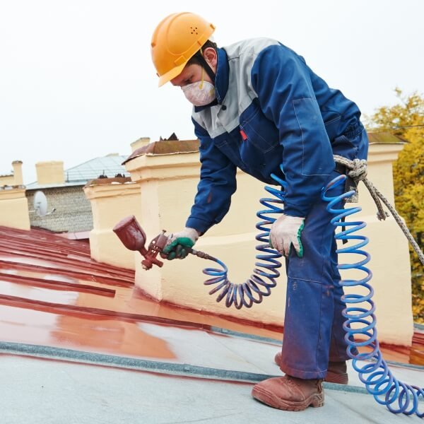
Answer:
<path fill-rule="evenodd" d="M 273 198 L 263 198 L 260 200 L 261 204 L 266 208 L 257 212 L 257 217 L 260 221 L 257 223 L 256 228 L 260 233 L 255 239 L 261 242 L 261 245 L 257 245 L 255 248 L 259 252 L 257 254 L 255 262 L 255 268 L 250 278 L 245 283 L 235 284 L 228 280 L 228 268 L 219 259 L 213 258 L 222 269 L 206 268 L 203 272 L 212 276 L 204 282 L 205 285 L 216 285 L 211 291 L 210 295 L 218 293 L 216 298 L 217 302 L 220 302 L 225 298 L 225 306 L 231 307 L 234 305 L 237 310 L 240 310 L 243 306 L 252 307 L 254 303 L 261 303 L 264 297 L 271 294 L 271 288 L 277 285 L 276 278 L 280 276 L 278 268 L 281 267 L 281 262 L 278 260 L 281 258 L 281 253 L 271 248 L 269 245 L 269 231 L 272 223 L 276 220 L 271 218 L 269 213 L 282 213 L 283 208 L 281 204 L 285 198 L 285 187 L 287 183 L 271 174 L 271 177 L 281 186 L 281 189 L 276 187 L 266 186 L 265 189 L 269 192 Z M 264 269 L 261 270 L 260 268 Z"/>

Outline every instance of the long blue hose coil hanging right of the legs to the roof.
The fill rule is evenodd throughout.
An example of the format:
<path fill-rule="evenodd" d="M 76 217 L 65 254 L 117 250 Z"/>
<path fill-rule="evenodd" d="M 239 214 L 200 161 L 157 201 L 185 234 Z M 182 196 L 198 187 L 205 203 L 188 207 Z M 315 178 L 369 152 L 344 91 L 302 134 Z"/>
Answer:
<path fill-rule="evenodd" d="M 362 208 L 338 209 L 334 207 L 343 202 L 343 199 L 352 196 L 354 194 L 353 191 L 343 193 L 340 196 L 327 195 L 327 192 L 331 188 L 343 184 L 345 179 L 345 175 L 339 175 L 332 179 L 322 189 L 322 199 L 329 202 L 327 211 L 334 214 L 331 223 L 336 228 L 342 228 L 340 232 L 336 232 L 334 236 L 336 240 L 353 240 L 356 243 L 355 245 L 337 249 L 337 253 L 360 255 L 360 259 L 355 264 L 339 264 L 338 269 L 358 269 L 365 273 L 364 278 L 360 280 L 341 281 L 343 287 L 360 286 L 367 290 L 367 294 L 365 295 L 345 294 L 342 298 L 346 302 L 346 309 L 343 310 L 343 317 L 346 318 L 343 329 L 346 331 L 345 338 L 348 343 L 346 351 L 353 360 L 352 365 L 355 371 L 358 372 L 360 381 L 365 384 L 367 391 L 374 396 L 374 399 L 379 404 L 387 406 L 391 413 L 404 413 L 405 415 L 415 413 L 418 417 L 423 418 L 424 412 L 420 413 L 418 411 L 418 398 L 420 396 L 424 398 L 424 389 L 396 379 L 391 373 L 386 361 L 382 358 L 382 353 L 379 350 L 375 305 L 372 302 L 374 290 L 368 283 L 372 278 L 372 272 L 365 266 L 371 257 L 369 253 L 363 250 L 363 247 L 368 244 L 368 238 L 364 235 L 355 234 L 358 230 L 365 228 L 366 224 L 363 221 L 343 221 L 343 218 L 361 211 Z M 358 306 L 358 304 L 361 304 L 362 307 Z M 360 336 L 361 341 L 355 341 L 356 335 Z M 367 351 L 355 353 L 353 349 L 358 347 L 367 348 Z M 359 363 L 359 361 L 364 360 L 370 362 L 365 363 L 365 365 Z"/>

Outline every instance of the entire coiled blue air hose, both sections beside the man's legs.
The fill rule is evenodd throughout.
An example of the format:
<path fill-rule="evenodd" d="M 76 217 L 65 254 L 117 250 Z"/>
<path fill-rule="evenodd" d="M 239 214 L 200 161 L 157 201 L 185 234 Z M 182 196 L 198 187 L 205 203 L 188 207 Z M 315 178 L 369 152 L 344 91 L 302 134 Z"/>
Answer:
<path fill-rule="evenodd" d="M 266 209 L 257 212 L 258 218 L 261 220 L 256 227 L 261 231 L 256 240 L 263 243 L 257 245 L 256 249 L 260 252 L 257 254 L 257 259 L 261 262 L 255 262 L 255 266 L 264 268 L 266 271 L 261 271 L 259 268 L 254 269 L 254 273 L 250 278 L 242 284 L 230 283 L 228 280 L 228 268 L 225 264 L 216 258 L 209 258 L 216 261 L 222 269 L 206 268 L 204 273 L 213 276 L 204 282 L 205 285 L 216 285 L 209 294 L 218 293 L 216 299 L 220 302 L 225 298 L 225 306 L 230 307 L 235 305 L 237 310 L 243 306 L 252 307 L 254 303 L 260 303 L 264 297 L 271 294 L 271 288 L 276 286 L 276 278 L 280 276 L 278 268 L 281 267 L 279 258 L 281 254 L 269 247 L 269 231 L 275 218 L 268 216 L 270 213 L 282 213 L 286 187 L 285 181 L 271 175 L 273 179 L 281 185 L 281 189 L 275 187 L 265 187 L 266 191 L 272 194 L 272 199 L 261 199 L 260 202 Z M 359 254 L 362 258 L 355 264 L 339 264 L 338 269 L 358 269 L 365 273 L 365 277 L 360 280 L 342 280 L 341 285 L 344 287 L 361 286 L 367 289 L 366 295 L 345 294 L 342 298 L 346 302 L 346 309 L 343 310 L 343 317 L 346 322 L 343 329 L 346 331 L 346 341 L 348 343 L 347 353 L 352 358 L 352 365 L 355 371 L 358 372 L 360 381 L 365 384 L 367 391 L 374 396 L 375 400 L 382 405 L 387 406 L 392 413 L 404 413 L 412 415 L 415 413 L 418 417 L 423 418 L 424 412 L 418 411 L 419 396 L 424 398 L 424 389 L 406 384 L 394 377 L 389 369 L 386 361 L 382 358 L 382 353 L 379 350 L 377 340 L 377 329 L 375 319 L 375 305 L 372 301 L 374 290 L 368 283 L 372 278 L 372 272 L 365 265 L 370 261 L 370 254 L 363 250 L 368 244 L 368 238 L 364 235 L 354 234 L 358 230 L 365 228 L 366 224 L 363 221 L 344 220 L 346 216 L 351 216 L 362 210 L 360 207 L 352 208 L 334 208 L 344 199 L 351 197 L 355 192 L 346 192 L 339 196 L 328 196 L 327 192 L 333 187 L 343 184 L 346 180 L 345 175 L 339 175 L 329 182 L 322 189 L 322 199 L 329 202 L 327 210 L 334 214 L 331 223 L 336 227 L 341 227 L 342 230 L 337 232 L 336 240 L 354 240 L 353 246 L 343 247 L 337 250 L 338 254 L 350 253 Z M 269 282 L 265 281 L 268 280 Z M 367 305 L 360 307 L 358 304 Z M 359 335 L 361 341 L 355 341 L 355 336 Z M 365 340 L 363 340 L 365 338 Z M 369 351 L 363 353 L 354 353 L 355 348 L 367 348 Z M 360 364 L 359 361 L 368 361 L 365 364 Z M 394 403 L 397 401 L 397 407 Z"/>

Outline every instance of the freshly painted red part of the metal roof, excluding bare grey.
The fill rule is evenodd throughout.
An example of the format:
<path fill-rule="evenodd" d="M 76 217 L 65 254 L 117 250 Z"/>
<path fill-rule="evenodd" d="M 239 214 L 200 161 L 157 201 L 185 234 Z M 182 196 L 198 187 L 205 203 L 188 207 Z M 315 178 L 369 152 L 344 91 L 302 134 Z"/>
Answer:
<path fill-rule="evenodd" d="M 156 302 L 134 288 L 134 271 L 91 259 L 86 242 L 0 227 L 2 341 L 173 358 L 167 343 L 143 332 L 139 322 L 216 326 L 276 340 L 283 331 Z M 382 350 L 388 360 L 424 365 L 424 334 L 416 331 L 411 349 Z"/>

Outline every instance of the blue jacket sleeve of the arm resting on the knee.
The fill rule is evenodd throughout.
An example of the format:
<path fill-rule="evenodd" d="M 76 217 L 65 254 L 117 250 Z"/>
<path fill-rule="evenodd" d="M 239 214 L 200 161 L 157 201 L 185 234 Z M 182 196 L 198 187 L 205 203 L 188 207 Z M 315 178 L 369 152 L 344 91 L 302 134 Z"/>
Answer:
<path fill-rule="evenodd" d="M 284 213 L 305 217 L 335 165 L 309 68 L 292 50 L 273 45 L 258 54 L 251 76 L 261 110 L 278 128 L 283 146 Z"/>

